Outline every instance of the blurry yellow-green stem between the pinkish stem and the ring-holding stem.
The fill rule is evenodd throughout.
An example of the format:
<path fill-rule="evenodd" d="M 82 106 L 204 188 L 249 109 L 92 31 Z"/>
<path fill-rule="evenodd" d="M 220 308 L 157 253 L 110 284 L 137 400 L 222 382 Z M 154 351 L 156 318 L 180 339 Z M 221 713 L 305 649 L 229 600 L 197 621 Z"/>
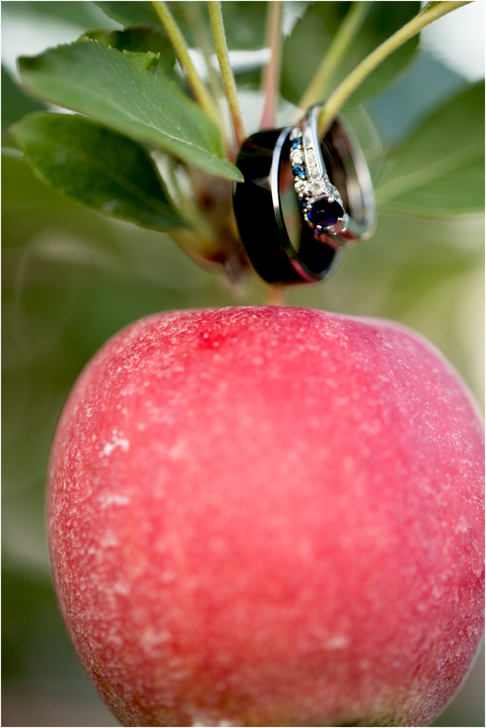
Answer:
<path fill-rule="evenodd" d="M 319 103 L 319 101 L 326 98 L 332 75 L 359 33 L 370 5 L 370 2 L 354 2 L 351 4 L 351 8 L 340 24 L 338 32 L 332 39 L 332 43 L 327 49 L 319 68 L 317 68 L 314 77 L 299 101 L 300 108 L 306 110 L 309 106 L 313 106 L 314 103 Z"/>

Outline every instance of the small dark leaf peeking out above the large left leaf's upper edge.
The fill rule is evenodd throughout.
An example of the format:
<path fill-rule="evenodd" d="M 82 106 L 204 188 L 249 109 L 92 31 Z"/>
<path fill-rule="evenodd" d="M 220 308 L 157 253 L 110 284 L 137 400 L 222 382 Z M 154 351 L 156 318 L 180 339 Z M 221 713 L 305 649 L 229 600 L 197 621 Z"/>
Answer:
<path fill-rule="evenodd" d="M 82 39 L 98 41 L 121 51 L 159 54 L 159 65 L 167 76 L 175 76 L 175 52 L 162 28 L 154 28 L 153 25 L 131 25 L 123 31 L 111 31 L 111 33 L 103 30 L 87 31 Z"/>

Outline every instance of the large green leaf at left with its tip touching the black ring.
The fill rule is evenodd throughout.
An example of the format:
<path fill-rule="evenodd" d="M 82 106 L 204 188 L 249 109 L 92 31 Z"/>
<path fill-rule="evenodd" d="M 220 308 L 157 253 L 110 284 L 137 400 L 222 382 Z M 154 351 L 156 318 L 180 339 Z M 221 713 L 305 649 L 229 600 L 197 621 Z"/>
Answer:
<path fill-rule="evenodd" d="M 20 58 L 19 66 L 23 81 L 39 97 L 207 173 L 242 180 L 235 165 L 223 159 L 216 124 L 167 79 L 153 53 L 121 53 L 79 41 Z"/>

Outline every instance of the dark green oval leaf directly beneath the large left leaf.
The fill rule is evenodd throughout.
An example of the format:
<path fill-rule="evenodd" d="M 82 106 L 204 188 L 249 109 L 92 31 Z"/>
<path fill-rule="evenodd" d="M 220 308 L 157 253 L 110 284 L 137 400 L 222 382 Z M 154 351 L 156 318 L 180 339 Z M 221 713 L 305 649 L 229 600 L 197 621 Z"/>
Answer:
<path fill-rule="evenodd" d="M 151 158 L 131 139 L 74 114 L 38 111 L 12 134 L 36 175 L 100 213 L 157 230 L 178 226 Z"/>

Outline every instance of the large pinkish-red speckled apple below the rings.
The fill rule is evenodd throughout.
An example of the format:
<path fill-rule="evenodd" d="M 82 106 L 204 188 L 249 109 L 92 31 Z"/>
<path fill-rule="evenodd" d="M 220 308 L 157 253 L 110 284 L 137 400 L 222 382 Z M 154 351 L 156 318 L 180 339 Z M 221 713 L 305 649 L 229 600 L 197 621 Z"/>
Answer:
<path fill-rule="evenodd" d="M 483 430 L 384 320 L 156 314 L 81 373 L 50 461 L 55 589 L 127 726 L 423 726 L 474 660 Z"/>

